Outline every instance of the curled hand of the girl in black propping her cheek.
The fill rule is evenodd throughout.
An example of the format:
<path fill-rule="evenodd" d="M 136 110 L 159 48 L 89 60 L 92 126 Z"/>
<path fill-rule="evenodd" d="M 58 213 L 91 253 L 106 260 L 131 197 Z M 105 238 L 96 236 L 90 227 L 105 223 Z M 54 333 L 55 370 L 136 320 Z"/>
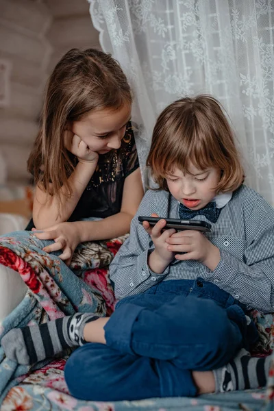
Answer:
<path fill-rule="evenodd" d="M 95 163 L 98 161 L 98 153 L 91 151 L 88 145 L 71 130 L 64 131 L 64 145 L 67 150 L 77 156 L 79 162 Z"/>

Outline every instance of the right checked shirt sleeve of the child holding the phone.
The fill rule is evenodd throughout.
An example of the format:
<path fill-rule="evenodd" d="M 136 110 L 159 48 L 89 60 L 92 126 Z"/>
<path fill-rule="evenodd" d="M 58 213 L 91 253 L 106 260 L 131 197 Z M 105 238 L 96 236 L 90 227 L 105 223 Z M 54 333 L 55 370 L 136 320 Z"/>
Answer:
<path fill-rule="evenodd" d="M 261 312 L 274 312 L 274 210 L 262 197 L 245 221 L 244 261 L 220 249 L 221 261 L 205 279 Z"/>

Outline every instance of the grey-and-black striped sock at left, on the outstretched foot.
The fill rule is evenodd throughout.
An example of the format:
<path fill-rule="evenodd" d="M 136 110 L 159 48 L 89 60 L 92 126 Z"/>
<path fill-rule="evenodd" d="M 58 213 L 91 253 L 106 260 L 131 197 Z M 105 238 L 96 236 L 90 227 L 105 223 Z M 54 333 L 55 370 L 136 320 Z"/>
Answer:
<path fill-rule="evenodd" d="M 5 355 L 18 364 L 34 364 L 56 356 L 69 347 L 83 345 L 84 326 L 98 319 L 77 313 L 41 325 L 11 329 L 1 340 Z"/>

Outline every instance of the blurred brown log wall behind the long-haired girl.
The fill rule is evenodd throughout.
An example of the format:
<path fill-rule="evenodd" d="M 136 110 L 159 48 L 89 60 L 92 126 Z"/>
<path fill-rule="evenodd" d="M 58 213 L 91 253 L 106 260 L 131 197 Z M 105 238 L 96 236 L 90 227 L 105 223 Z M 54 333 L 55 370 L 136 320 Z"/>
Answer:
<path fill-rule="evenodd" d="M 0 150 L 10 182 L 29 181 L 26 161 L 56 62 L 73 47 L 100 47 L 88 8 L 86 0 L 0 0 L 0 59 L 12 65 L 10 105 L 0 108 Z"/>

